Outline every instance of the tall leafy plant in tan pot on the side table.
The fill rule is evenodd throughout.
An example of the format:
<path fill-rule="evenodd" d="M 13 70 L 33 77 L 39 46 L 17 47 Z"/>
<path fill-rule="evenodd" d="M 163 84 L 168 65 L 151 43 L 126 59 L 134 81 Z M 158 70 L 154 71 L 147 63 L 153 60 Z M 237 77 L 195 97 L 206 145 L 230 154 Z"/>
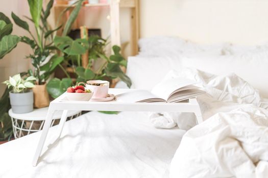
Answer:
<path fill-rule="evenodd" d="M 70 14 L 70 18 L 67 20 L 64 26 L 63 35 L 66 35 L 70 28 L 71 24 L 77 18 L 78 12 L 82 6 L 83 1 L 77 1 L 77 6 Z M 59 25 L 55 29 L 52 29 L 48 25 L 47 18 L 50 15 L 50 11 L 53 7 L 54 0 L 50 0 L 46 5 L 46 9 L 42 8 L 42 0 L 28 0 L 31 18 L 28 18 L 35 26 L 35 34 L 30 31 L 29 24 L 26 21 L 23 21 L 14 13 L 12 13 L 12 18 L 14 22 L 25 29 L 30 37 L 20 37 L 21 42 L 30 45 L 33 49 L 33 53 L 27 56 L 31 58 L 33 70 L 29 70 L 28 73 L 31 76 L 36 78 L 36 87 L 33 88 L 34 92 L 34 106 L 37 108 L 45 107 L 49 105 L 48 93 L 46 90 L 47 80 L 50 78 L 51 74 L 55 71 L 57 66 L 63 68 L 60 64 L 63 61 L 62 56 L 56 54 L 56 47 L 54 46 L 54 37 L 55 33 L 61 28 L 62 25 Z M 66 12 L 69 8 L 66 8 Z"/>

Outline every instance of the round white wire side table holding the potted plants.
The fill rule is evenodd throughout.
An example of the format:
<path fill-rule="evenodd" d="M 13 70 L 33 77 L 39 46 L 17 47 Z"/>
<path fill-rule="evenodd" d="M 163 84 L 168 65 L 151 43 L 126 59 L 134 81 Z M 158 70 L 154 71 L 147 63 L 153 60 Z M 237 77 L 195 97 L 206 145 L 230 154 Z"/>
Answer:
<path fill-rule="evenodd" d="M 14 138 L 17 139 L 42 130 L 47 112 L 48 107 L 34 109 L 28 113 L 13 113 L 12 109 L 10 109 L 8 114 L 11 117 Z M 62 110 L 54 112 L 50 127 L 59 124 L 62 112 Z M 79 110 L 69 110 L 67 120 L 72 120 L 80 115 L 81 111 Z"/>

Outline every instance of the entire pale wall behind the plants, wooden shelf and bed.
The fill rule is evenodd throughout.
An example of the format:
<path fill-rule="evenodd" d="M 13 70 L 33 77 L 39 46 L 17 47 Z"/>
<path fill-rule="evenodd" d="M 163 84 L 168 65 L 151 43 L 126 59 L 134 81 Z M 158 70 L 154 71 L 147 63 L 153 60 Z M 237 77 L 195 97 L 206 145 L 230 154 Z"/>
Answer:
<path fill-rule="evenodd" d="M 198 43 L 232 42 L 237 44 L 257 44 L 268 41 L 268 0 L 139 0 L 140 37 L 155 35 L 178 36 Z M 11 11 L 17 15 L 28 15 L 27 1 L 2 0 L 0 11 L 10 17 Z M 80 23 L 101 27 L 103 37 L 109 35 L 109 14 L 107 8 L 86 9 Z M 120 19 L 122 42 L 130 36 L 130 12 L 121 10 Z M 92 20 L 100 15 L 102 20 Z M 125 16 L 126 15 L 126 16 Z M 92 17 L 92 18 L 91 18 Z M 14 25 L 16 35 L 28 35 Z M 27 71 L 30 67 L 25 56 L 31 52 L 27 45 L 18 47 L 0 60 L 0 82 L 10 75 Z M 128 53 L 128 45 L 125 50 Z M 4 90 L 0 84 L 0 95 Z"/>

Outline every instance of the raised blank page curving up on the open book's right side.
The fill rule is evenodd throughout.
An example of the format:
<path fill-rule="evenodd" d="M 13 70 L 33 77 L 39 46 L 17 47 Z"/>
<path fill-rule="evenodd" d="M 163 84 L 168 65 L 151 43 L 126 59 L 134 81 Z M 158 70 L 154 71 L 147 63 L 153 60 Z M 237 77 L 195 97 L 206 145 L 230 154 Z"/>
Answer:
<path fill-rule="evenodd" d="M 172 95 L 175 91 L 179 90 L 182 87 L 195 83 L 196 82 L 193 80 L 179 77 L 166 79 L 158 83 L 153 88 L 152 94 L 167 101 L 169 96 Z"/>

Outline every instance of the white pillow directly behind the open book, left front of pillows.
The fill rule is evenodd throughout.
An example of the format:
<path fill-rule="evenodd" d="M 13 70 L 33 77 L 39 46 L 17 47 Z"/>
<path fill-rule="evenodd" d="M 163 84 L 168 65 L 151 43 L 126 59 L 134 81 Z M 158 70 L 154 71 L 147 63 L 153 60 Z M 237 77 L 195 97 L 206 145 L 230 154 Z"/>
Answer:
<path fill-rule="evenodd" d="M 139 56 L 128 58 L 127 75 L 132 81 L 131 88 L 152 90 L 170 69 L 181 70 L 179 58 Z"/>

